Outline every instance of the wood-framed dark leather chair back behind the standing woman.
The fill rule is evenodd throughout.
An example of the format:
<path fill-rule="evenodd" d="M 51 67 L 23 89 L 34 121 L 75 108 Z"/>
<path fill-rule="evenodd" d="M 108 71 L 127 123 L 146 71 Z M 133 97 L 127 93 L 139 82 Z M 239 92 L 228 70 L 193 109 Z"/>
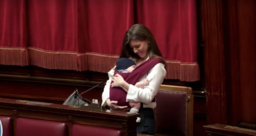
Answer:
<path fill-rule="evenodd" d="M 161 85 L 156 95 L 156 135 L 193 135 L 192 89 Z"/>

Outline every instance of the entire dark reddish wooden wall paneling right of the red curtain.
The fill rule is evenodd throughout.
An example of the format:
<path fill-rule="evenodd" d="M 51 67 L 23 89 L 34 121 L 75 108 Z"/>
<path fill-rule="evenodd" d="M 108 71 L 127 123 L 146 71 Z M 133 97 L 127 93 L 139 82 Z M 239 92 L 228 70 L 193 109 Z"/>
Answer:
<path fill-rule="evenodd" d="M 208 124 L 256 124 L 256 2 L 200 3 Z"/>

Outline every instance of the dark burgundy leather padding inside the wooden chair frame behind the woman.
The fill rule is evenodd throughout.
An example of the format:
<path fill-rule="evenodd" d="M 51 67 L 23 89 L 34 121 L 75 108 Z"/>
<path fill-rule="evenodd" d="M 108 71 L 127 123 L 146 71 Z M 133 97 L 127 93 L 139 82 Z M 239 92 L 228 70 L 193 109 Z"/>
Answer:
<path fill-rule="evenodd" d="M 186 135 L 184 125 L 186 124 L 186 94 L 158 91 L 156 102 L 156 131 L 164 134 L 175 132 L 176 135 Z"/>

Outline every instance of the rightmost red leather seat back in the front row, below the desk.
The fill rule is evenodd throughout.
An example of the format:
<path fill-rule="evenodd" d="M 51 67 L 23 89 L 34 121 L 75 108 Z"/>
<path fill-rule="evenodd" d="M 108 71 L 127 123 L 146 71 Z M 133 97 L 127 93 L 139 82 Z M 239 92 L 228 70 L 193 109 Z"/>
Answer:
<path fill-rule="evenodd" d="M 121 136 L 121 130 L 74 124 L 72 136 Z"/>

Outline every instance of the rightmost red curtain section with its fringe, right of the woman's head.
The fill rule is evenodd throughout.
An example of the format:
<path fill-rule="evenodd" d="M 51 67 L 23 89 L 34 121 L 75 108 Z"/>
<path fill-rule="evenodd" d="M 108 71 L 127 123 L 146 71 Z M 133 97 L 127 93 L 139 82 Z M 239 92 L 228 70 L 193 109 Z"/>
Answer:
<path fill-rule="evenodd" d="M 167 62 L 168 79 L 199 80 L 195 0 L 139 0 L 138 23 L 148 26 Z"/>

